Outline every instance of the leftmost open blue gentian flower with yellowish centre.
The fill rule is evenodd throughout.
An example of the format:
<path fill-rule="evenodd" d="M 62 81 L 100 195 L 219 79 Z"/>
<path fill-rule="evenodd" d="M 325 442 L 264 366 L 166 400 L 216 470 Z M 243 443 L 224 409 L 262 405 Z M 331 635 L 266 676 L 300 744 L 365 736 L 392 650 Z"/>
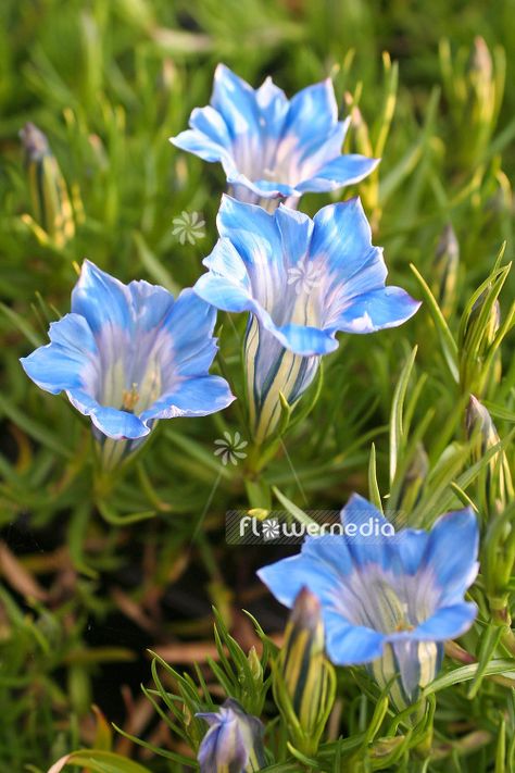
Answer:
<path fill-rule="evenodd" d="M 209 375 L 215 319 L 191 289 L 174 300 L 163 287 L 124 285 L 85 261 L 72 313 L 21 362 L 41 389 L 65 391 L 100 439 L 129 441 L 115 456 L 127 453 L 156 420 L 203 416 L 235 399 L 223 378 Z"/>

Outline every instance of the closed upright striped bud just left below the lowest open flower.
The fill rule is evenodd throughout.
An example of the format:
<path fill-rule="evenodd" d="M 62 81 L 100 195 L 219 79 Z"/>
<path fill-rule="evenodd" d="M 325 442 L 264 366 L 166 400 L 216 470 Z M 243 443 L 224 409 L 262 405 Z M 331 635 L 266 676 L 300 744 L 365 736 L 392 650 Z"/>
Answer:
<path fill-rule="evenodd" d="M 335 675 L 324 654 L 321 604 L 307 588 L 296 599 L 277 666 L 277 705 L 297 748 L 314 755 L 335 700 Z"/>

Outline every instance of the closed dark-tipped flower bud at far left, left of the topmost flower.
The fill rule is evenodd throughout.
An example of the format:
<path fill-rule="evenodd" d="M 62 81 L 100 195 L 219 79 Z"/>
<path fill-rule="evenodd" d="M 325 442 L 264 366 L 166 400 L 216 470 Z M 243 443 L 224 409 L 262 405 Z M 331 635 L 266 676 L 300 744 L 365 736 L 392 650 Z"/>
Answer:
<path fill-rule="evenodd" d="M 75 224 L 66 183 L 47 137 L 27 123 L 20 132 L 37 225 L 59 248 L 75 236 Z"/>

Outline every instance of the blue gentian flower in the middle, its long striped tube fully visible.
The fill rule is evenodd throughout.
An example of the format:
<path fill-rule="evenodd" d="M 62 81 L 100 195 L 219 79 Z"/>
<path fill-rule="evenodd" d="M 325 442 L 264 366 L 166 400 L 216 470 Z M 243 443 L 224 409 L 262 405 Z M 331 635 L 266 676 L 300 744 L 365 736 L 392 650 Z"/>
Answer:
<path fill-rule="evenodd" d="M 296 403 L 321 356 L 338 348 L 338 331 L 394 327 L 419 303 L 385 287 L 382 250 L 372 245 L 359 199 L 324 207 L 311 220 L 285 205 L 269 214 L 224 196 L 217 226 L 221 239 L 204 260 L 209 272 L 193 289 L 218 309 L 251 314 L 248 401 L 261 441 L 279 421 L 279 392 Z"/>

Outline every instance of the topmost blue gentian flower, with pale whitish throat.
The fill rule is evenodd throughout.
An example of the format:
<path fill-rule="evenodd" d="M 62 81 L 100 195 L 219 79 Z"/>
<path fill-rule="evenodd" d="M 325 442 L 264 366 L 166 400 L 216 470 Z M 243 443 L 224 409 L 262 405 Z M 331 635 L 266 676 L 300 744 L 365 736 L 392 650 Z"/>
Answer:
<path fill-rule="evenodd" d="M 196 108 L 190 128 L 171 141 L 219 161 L 241 201 L 291 204 L 306 191 L 357 183 L 376 167 L 377 159 L 341 154 L 349 121 L 338 121 L 329 78 L 288 100 L 272 78 L 254 90 L 219 64 L 211 104 Z"/>

